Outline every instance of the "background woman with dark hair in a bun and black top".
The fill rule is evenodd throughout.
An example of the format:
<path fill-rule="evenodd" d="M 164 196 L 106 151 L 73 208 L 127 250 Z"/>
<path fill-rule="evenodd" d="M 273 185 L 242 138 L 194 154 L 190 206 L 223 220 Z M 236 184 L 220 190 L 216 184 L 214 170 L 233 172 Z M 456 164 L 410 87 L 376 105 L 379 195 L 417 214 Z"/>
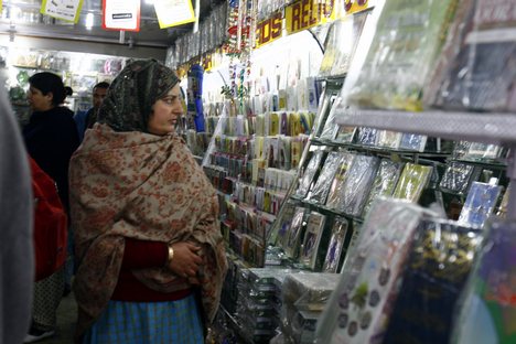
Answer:
<path fill-rule="evenodd" d="M 79 141 L 73 112 L 60 106 L 66 98 L 66 90 L 61 77 L 49 72 L 34 74 L 29 84 L 28 100 L 33 112 L 23 128 L 25 147 L 56 183 L 61 202 L 68 209 L 68 164 Z M 64 288 L 64 268 L 34 284 L 32 325 L 25 343 L 54 335 L 56 310 Z"/>

